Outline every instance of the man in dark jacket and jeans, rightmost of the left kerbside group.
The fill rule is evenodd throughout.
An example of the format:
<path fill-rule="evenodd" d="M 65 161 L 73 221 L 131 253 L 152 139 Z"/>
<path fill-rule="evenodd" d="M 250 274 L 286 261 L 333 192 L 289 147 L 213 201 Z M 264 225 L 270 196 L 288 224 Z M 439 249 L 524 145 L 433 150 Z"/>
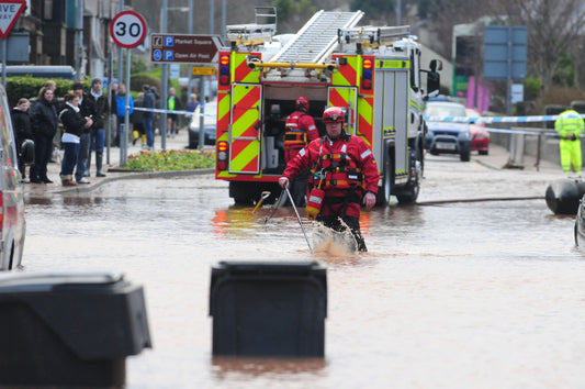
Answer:
<path fill-rule="evenodd" d="M 88 169 L 91 165 L 91 153 L 95 151 L 95 177 L 105 177 L 103 173 L 103 148 L 105 146 L 105 123 L 110 114 L 108 97 L 102 91 L 102 80 L 91 80 L 91 90 L 87 95 L 88 104 L 91 107 L 90 116 L 93 125 L 90 129 Z"/>

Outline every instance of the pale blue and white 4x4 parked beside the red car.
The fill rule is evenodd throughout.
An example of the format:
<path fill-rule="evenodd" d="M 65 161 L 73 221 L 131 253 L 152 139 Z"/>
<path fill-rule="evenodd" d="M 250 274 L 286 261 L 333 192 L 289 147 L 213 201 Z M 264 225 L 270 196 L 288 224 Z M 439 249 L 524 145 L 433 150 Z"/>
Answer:
<path fill-rule="evenodd" d="M 465 107 L 452 101 L 428 101 L 425 116 L 465 116 Z M 471 132 L 469 123 L 427 120 L 425 148 L 432 155 L 459 154 L 463 162 L 470 160 Z"/>

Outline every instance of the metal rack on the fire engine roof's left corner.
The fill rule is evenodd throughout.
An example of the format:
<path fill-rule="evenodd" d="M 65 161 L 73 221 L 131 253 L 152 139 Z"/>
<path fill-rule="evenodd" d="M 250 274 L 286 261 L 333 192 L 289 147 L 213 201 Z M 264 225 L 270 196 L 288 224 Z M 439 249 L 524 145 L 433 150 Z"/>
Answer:
<path fill-rule="evenodd" d="M 272 40 L 277 33 L 277 9 L 274 7 L 256 7 L 256 23 L 230 24 L 225 26 L 225 35 L 236 45 L 259 45 Z M 273 23 L 260 23 L 261 19 Z"/>

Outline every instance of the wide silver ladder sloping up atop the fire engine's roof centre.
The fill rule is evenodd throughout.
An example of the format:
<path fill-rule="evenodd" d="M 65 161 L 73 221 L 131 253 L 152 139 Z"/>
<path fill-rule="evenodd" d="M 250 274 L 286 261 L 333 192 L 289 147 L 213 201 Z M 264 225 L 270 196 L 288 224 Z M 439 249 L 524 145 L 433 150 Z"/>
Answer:
<path fill-rule="evenodd" d="M 319 64 L 337 48 L 338 29 L 352 27 L 363 16 L 362 11 L 325 12 L 319 11 L 296 33 L 279 53 L 272 63 Z"/>

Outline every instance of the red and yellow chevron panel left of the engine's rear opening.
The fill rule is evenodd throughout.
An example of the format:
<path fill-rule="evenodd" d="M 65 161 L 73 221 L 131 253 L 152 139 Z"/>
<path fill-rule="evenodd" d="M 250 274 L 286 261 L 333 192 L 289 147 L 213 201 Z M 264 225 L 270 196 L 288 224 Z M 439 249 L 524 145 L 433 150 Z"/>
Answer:
<path fill-rule="evenodd" d="M 258 174 L 260 171 L 261 101 L 261 86 L 249 84 L 232 86 L 229 173 Z"/>

